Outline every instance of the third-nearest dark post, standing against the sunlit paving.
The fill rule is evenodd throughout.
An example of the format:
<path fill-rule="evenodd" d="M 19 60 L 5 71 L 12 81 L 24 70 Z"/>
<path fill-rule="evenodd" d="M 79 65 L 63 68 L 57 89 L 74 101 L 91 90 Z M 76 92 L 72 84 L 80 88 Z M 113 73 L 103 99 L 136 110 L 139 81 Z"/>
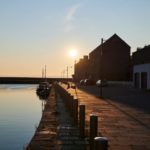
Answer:
<path fill-rule="evenodd" d="M 79 129 L 80 137 L 85 137 L 85 105 L 79 107 Z"/>

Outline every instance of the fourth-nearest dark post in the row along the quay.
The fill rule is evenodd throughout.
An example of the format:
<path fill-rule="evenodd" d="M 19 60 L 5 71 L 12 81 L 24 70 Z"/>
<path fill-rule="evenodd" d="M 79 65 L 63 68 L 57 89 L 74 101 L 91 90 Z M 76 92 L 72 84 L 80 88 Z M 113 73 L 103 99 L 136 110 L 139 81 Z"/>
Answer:
<path fill-rule="evenodd" d="M 73 100 L 73 117 L 75 124 L 78 124 L 78 99 Z"/>

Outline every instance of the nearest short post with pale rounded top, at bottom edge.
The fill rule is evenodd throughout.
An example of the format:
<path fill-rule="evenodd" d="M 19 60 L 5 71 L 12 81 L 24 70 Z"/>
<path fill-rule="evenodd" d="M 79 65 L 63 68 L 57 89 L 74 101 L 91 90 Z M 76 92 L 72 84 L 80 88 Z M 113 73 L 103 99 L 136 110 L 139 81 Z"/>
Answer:
<path fill-rule="evenodd" d="M 108 150 L 108 139 L 106 137 L 95 137 L 94 150 Z"/>

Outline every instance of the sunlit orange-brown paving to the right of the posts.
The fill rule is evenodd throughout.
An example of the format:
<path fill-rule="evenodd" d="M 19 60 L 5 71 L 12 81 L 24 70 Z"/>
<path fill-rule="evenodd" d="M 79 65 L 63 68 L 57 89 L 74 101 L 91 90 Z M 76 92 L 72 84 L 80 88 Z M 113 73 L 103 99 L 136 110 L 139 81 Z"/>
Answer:
<path fill-rule="evenodd" d="M 80 104 L 85 104 L 87 124 L 91 113 L 98 116 L 99 135 L 109 139 L 110 150 L 150 150 L 149 113 L 117 101 L 97 98 L 80 89 L 68 91 Z"/>

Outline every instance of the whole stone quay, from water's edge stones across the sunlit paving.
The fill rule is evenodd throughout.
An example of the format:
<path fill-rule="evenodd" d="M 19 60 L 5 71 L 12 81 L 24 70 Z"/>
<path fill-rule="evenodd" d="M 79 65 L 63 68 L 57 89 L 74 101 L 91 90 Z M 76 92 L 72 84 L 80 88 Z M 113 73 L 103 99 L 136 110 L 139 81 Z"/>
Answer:
<path fill-rule="evenodd" d="M 81 133 L 80 106 L 85 106 L 84 134 Z M 92 116 L 97 121 L 94 131 Z M 98 150 L 91 136 L 107 139 L 105 149 L 109 150 L 149 150 L 150 114 L 110 99 L 100 99 L 79 88 L 68 89 L 66 84 L 57 84 L 52 88 L 27 150 Z"/>

